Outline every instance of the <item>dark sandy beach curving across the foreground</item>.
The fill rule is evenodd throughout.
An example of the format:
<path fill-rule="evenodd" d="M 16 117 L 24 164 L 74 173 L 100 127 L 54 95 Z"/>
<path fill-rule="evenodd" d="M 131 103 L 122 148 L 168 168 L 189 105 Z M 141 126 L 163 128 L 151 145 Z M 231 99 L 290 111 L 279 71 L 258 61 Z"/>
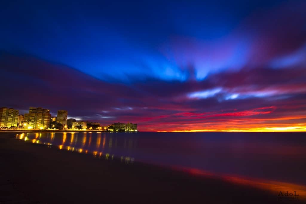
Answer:
<path fill-rule="evenodd" d="M 47 148 L 7 133 L 0 133 L 0 161 L 0 203 L 303 202 L 215 178 Z"/>

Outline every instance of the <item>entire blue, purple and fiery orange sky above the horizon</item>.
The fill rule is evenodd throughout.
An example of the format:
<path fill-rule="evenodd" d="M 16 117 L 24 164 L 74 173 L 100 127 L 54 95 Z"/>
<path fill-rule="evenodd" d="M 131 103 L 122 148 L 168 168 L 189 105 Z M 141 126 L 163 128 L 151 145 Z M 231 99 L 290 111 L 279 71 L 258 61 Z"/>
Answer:
<path fill-rule="evenodd" d="M 0 106 L 139 131 L 306 131 L 305 1 L 4 1 Z"/>

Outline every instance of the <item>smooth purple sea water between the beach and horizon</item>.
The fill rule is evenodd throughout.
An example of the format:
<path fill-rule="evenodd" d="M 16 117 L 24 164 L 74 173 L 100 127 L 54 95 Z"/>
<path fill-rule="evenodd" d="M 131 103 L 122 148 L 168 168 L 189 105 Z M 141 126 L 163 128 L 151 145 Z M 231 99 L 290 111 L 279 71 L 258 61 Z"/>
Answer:
<path fill-rule="evenodd" d="M 220 175 L 306 184 L 305 133 L 23 133 L 44 144 L 103 159 L 141 161 Z"/>

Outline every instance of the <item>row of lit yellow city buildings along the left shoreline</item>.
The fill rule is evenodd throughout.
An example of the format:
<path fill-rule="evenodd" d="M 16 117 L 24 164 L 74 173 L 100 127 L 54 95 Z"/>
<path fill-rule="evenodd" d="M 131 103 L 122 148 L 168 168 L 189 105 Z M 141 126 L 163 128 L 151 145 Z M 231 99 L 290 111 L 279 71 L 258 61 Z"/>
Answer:
<path fill-rule="evenodd" d="M 0 128 L 2 129 L 34 129 L 34 130 L 98 130 L 107 132 L 137 132 L 137 124 L 108 123 L 101 124 L 92 120 L 76 120 L 68 118 L 67 110 L 58 110 L 56 117 L 52 117 L 49 109 L 29 107 L 27 113 L 19 114 L 19 110 L 0 107 Z"/>

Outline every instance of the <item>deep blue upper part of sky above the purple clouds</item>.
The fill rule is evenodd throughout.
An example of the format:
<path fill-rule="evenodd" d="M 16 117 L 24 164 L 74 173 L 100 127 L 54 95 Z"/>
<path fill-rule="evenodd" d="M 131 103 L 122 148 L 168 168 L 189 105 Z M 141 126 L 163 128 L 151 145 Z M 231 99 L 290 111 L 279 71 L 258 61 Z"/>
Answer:
<path fill-rule="evenodd" d="M 188 66 L 195 66 L 197 79 L 240 68 L 254 33 L 235 30 L 249 16 L 256 18 L 282 1 L 4 4 L 0 49 L 63 63 L 103 80 L 126 81 L 130 75 L 187 80 Z M 228 56 L 226 49 L 236 56 Z"/>

